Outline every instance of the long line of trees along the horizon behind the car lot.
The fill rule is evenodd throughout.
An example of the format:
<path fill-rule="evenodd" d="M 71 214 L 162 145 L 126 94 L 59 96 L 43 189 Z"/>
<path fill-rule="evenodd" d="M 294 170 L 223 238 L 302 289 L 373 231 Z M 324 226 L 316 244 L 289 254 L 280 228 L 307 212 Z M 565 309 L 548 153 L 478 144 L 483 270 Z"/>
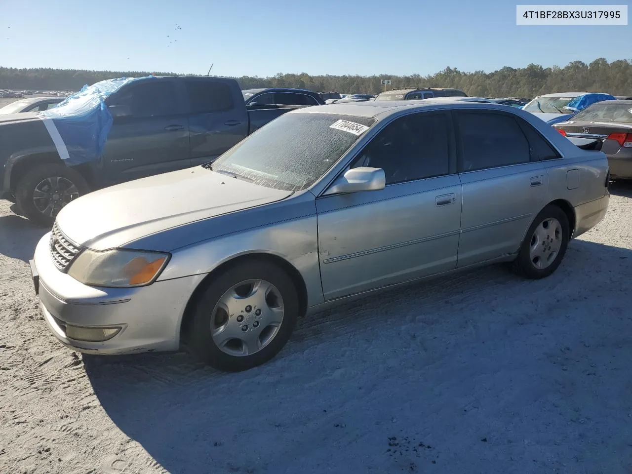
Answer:
<path fill-rule="evenodd" d="M 152 72 L 154 75 L 173 73 Z M 62 69 L 13 69 L 0 67 L 0 88 L 30 90 L 78 90 L 115 77 L 146 76 L 147 71 L 85 71 Z M 377 94 L 382 89 L 380 79 L 390 79 L 392 87 L 456 87 L 476 97 L 534 97 L 547 92 L 591 91 L 612 95 L 632 95 L 632 63 L 628 60 L 608 63 L 604 58 L 590 64 L 573 61 L 564 68 L 543 68 L 529 64 L 526 68 L 508 66 L 485 73 L 464 72 L 446 68 L 428 76 L 310 76 L 307 73 L 283 74 L 272 77 L 242 76 L 236 78 L 241 88 L 299 87 L 317 92 L 335 91 L 343 94 Z"/>

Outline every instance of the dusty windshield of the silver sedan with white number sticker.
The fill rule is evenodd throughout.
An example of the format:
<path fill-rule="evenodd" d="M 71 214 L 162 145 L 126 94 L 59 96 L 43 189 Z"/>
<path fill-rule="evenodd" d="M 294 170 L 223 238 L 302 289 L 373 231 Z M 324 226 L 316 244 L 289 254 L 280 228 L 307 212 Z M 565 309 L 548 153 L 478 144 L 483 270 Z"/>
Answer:
<path fill-rule="evenodd" d="M 205 167 L 260 186 L 300 191 L 327 173 L 374 123 L 348 115 L 284 114 Z"/>

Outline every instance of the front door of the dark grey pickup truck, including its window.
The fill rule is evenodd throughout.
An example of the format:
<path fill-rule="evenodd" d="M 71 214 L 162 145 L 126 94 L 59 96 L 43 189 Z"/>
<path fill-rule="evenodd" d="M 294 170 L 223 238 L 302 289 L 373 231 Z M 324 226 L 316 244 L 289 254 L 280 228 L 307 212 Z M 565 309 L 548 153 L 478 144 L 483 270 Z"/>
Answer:
<path fill-rule="evenodd" d="M 109 183 L 122 183 L 190 166 L 189 127 L 174 78 L 130 83 L 107 100 L 127 106 L 107 135 L 102 165 Z"/>

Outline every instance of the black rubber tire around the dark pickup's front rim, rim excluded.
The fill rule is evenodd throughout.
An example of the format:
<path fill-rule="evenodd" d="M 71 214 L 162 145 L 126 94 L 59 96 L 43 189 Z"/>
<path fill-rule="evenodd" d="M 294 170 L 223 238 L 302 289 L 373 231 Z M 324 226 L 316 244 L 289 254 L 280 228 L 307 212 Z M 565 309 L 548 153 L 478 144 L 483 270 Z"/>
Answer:
<path fill-rule="evenodd" d="M 58 183 L 61 183 L 60 186 L 62 187 L 66 186 L 67 183 L 71 183 L 71 185 L 75 186 L 78 192 L 71 193 L 70 200 L 76 199 L 77 197 L 90 192 L 90 186 L 88 186 L 88 183 L 85 179 L 83 179 L 83 176 L 62 163 L 40 164 L 27 171 L 27 173 L 20 178 L 20 181 L 18 181 L 18 185 L 15 188 L 14 194 L 16 201 L 24 216 L 35 222 L 35 224 L 44 227 L 52 226 L 59 210 L 61 210 L 64 205 L 68 204 L 68 202 L 65 202 L 64 200 L 59 200 L 54 203 L 54 207 L 51 212 L 46 213 L 42 212 L 42 210 L 38 209 L 37 205 L 35 205 L 35 189 L 40 185 L 40 183 L 49 178 L 62 178 L 57 181 Z M 47 201 L 44 198 L 38 200 L 40 205 L 44 205 L 45 202 Z M 53 204 L 50 200 L 48 200 L 48 202 Z"/>

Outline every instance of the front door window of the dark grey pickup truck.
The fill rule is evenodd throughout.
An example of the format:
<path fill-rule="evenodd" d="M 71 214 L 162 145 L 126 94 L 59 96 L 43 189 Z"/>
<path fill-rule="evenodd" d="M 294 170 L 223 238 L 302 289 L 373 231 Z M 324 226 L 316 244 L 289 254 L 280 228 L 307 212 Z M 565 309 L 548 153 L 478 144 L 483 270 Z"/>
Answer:
<path fill-rule="evenodd" d="M 171 81 L 145 80 L 119 93 L 112 94 L 108 106 L 128 106 L 134 118 L 148 118 L 178 113 L 173 84 Z"/>

